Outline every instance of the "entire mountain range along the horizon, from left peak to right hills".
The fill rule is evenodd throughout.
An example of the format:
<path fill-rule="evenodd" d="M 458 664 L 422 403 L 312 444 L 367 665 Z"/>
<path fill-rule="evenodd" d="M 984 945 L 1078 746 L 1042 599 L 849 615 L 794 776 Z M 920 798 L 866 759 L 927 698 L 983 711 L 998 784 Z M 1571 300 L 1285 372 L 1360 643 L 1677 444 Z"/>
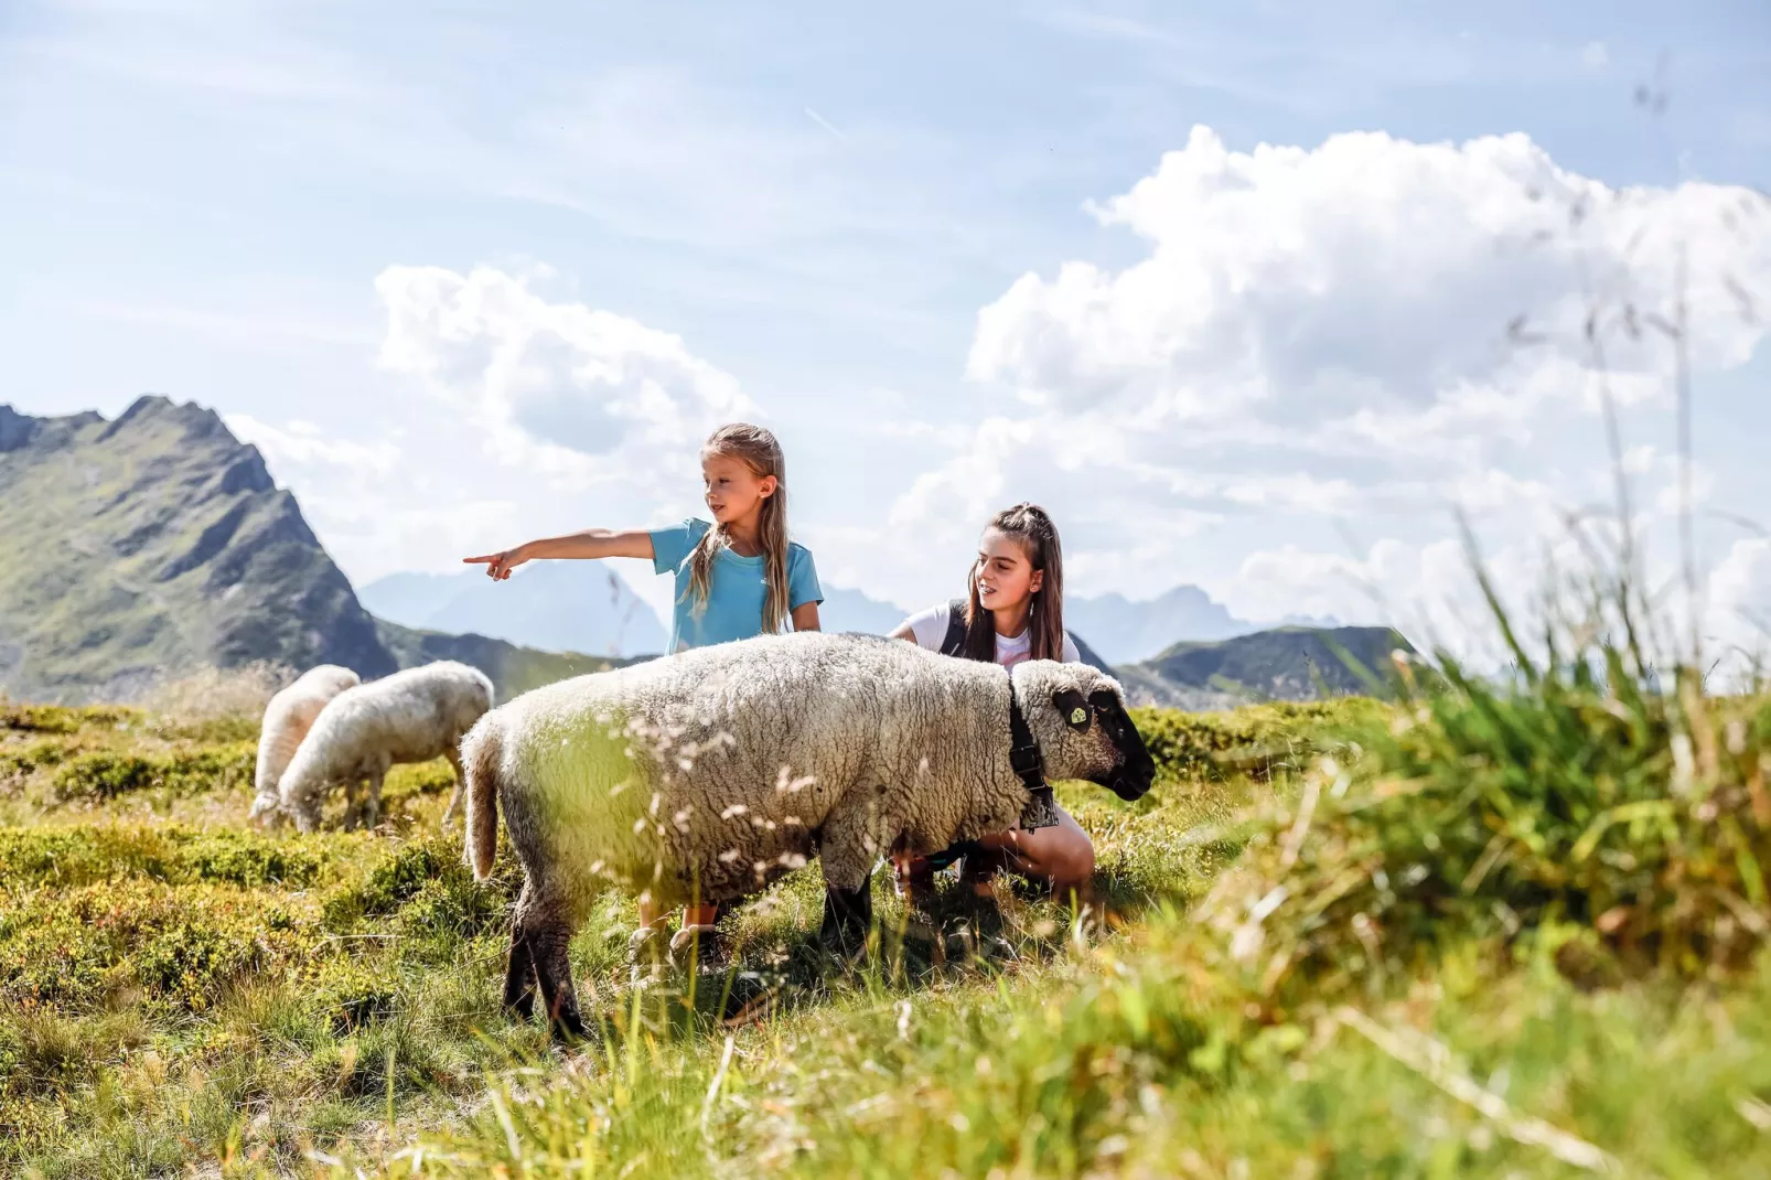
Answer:
<path fill-rule="evenodd" d="M 1381 627 L 1259 631 L 1195 586 L 1073 597 L 1064 613 L 1087 663 L 1116 666 L 1139 700 L 1192 709 L 1360 691 L 1335 647 L 1378 668 L 1408 647 Z M 825 631 L 886 634 L 907 611 L 825 586 L 820 615 Z M 211 409 L 142 397 L 115 420 L 32 418 L 0 404 L 0 693 L 129 700 L 205 664 L 379 677 L 460 659 L 508 698 L 664 645 L 652 608 L 593 562 L 537 562 L 498 585 L 393 574 L 358 595 Z"/>

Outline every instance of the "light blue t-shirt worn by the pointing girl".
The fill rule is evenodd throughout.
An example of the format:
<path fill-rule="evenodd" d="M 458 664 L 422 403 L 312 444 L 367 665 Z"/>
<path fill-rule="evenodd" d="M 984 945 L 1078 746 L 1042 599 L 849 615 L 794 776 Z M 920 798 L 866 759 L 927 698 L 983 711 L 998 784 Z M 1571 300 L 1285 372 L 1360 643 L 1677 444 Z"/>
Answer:
<path fill-rule="evenodd" d="M 769 590 L 762 556 L 739 556 L 730 547 L 714 558 L 714 576 L 708 579 L 707 609 L 696 611 L 689 592 L 689 555 L 712 524 L 687 519 L 682 524 L 652 530 L 652 569 L 677 576 L 677 606 L 671 611 L 669 650 L 680 652 L 710 643 L 730 643 L 763 634 L 763 595 Z M 811 549 L 788 542 L 786 546 L 786 608 L 799 609 L 806 602 L 822 602 L 818 571 L 811 563 Z"/>

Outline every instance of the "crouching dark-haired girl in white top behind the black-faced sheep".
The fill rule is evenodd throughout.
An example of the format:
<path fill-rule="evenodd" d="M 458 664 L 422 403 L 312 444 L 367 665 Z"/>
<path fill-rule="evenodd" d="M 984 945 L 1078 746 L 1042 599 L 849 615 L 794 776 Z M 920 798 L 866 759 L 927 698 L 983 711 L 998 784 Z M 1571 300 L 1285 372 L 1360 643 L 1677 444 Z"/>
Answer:
<path fill-rule="evenodd" d="M 1045 508 L 1018 503 L 997 512 L 978 542 L 971 597 L 912 615 L 893 631 L 893 638 L 946 656 L 995 661 L 1004 668 L 1025 659 L 1082 663 L 1077 645 L 1064 633 L 1064 556 L 1057 526 Z M 1059 897 L 1075 891 L 1086 900 L 1094 875 L 1094 845 L 1063 808 L 1057 808 L 1057 820 L 1056 827 L 1013 827 L 974 842 L 963 852 L 962 879 L 988 897 L 990 879 L 1008 868 L 1050 884 Z M 935 872 L 953 859 L 958 859 L 956 850 L 900 858 L 900 893 L 909 900 L 926 895 Z"/>

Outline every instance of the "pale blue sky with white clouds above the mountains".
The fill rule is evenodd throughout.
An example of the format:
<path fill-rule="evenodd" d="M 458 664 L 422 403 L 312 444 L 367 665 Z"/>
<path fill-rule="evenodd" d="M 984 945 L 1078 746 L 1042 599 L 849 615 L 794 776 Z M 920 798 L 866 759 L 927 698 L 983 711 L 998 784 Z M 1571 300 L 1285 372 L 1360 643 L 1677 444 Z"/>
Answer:
<path fill-rule="evenodd" d="M 1358 617 L 1450 594 L 1450 503 L 1523 576 L 1603 487 L 1580 349 L 1496 360 L 1580 260 L 1684 243 L 1771 308 L 1771 218 L 1718 229 L 1771 190 L 1762 4 L 955 7 L 12 0 L 0 399 L 218 408 L 358 579 L 680 517 L 749 413 L 831 581 L 946 597 L 1034 498 L 1080 592 Z M 1521 260 L 1521 177 L 1620 211 Z M 1746 514 L 1760 333 L 1695 349 Z M 1619 353 L 1654 505 L 1665 365 Z"/>

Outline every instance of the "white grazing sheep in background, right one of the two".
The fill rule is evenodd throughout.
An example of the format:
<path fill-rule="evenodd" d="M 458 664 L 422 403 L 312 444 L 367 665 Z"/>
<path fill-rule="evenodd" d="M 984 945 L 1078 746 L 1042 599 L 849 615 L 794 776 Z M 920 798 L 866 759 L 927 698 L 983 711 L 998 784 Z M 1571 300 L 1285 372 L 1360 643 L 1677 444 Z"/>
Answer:
<path fill-rule="evenodd" d="M 460 803 L 460 735 L 492 707 L 492 682 L 478 668 L 437 661 L 345 689 L 321 710 L 278 785 L 282 811 L 313 831 L 321 799 L 345 783 L 347 811 L 356 811 L 356 783 L 368 780 L 367 826 L 381 820 L 381 780 L 397 762 L 445 757 L 455 769 L 443 822 Z M 349 820 L 347 820 L 349 822 Z"/>

